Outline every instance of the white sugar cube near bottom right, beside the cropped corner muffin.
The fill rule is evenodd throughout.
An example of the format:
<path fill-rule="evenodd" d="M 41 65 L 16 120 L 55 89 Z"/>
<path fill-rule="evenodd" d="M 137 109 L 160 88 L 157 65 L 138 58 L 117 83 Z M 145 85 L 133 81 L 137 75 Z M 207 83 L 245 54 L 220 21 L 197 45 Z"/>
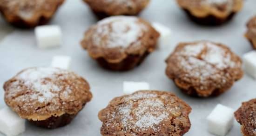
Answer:
<path fill-rule="evenodd" d="M 218 136 L 226 136 L 234 124 L 234 110 L 218 104 L 207 117 L 208 131 Z"/>

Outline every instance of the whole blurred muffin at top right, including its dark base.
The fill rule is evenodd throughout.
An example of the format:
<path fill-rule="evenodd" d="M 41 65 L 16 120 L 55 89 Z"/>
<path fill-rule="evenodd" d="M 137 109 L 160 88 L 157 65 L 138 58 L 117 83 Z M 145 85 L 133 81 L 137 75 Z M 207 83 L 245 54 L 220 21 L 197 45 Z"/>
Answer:
<path fill-rule="evenodd" d="M 189 18 L 202 25 L 221 25 L 243 7 L 243 0 L 177 0 Z"/>

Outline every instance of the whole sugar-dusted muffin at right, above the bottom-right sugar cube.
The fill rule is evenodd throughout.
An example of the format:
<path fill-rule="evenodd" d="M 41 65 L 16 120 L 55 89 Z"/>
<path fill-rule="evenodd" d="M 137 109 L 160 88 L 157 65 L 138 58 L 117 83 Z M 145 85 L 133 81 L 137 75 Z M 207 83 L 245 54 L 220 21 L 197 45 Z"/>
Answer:
<path fill-rule="evenodd" d="M 191 96 L 218 96 L 243 77 L 241 58 L 210 41 L 180 43 L 166 63 L 167 76 Z"/>

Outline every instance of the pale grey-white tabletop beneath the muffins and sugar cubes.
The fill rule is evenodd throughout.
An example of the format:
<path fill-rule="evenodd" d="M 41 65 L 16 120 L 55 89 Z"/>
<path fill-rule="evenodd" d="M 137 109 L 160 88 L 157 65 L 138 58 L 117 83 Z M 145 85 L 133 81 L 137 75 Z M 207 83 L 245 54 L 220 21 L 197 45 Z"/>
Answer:
<path fill-rule="evenodd" d="M 179 42 L 209 39 L 229 45 L 232 51 L 242 57 L 244 53 L 253 50 L 243 35 L 246 32 L 245 24 L 256 14 L 255 5 L 256 0 L 245 0 L 245 8 L 232 21 L 217 27 L 199 26 L 191 22 L 176 5 L 175 0 L 152 0 L 140 16 L 150 22 L 160 22 L 171 28 L 173 32 L 171 46 Z M 219 97 L 202 99 L 183 94 L 165 75 L 164 60 L 170 54 L 169 46 L 164 49 L 160 47 L 132 71 L 104 70 L 80 45 L 85 30 L 95 22 L 95 16 L 82 0 L 66 0 L 50 22 L 61 26 L 63 32 L 61 48 L 38 49 L 33 30 L 16 29 L 0 43 L 0 85 L 24 68 L 48 66 L 54 55 L 61 54 L 71 56 L 71 69 L 88 80 L 94 95 L 92 101 L 66 127 L 45 130 L 27 123 L 26 132 L 20 136 L 101 136 L 98 112 L 105 108 L 111 99 L 123 95 L 123 81 L 145 81 L 150 84 L 151 89 L 173 92 L 186 101 L 193 110 L 189 116 L 191 129 L 184 136 L 214 136 L 207 131 L 206 117 L 216 104 L 225 104 L 236 110 L 242 102 L 256 96 L 256 81 L 246 74 L 228 92 Z M 2 98 L 0 108 L 2 108 L 5 105 L 2 88 L 0 88 L 0 97 Z M 240 127 L 235 123 L 227 136 L 242 136 Z"/>

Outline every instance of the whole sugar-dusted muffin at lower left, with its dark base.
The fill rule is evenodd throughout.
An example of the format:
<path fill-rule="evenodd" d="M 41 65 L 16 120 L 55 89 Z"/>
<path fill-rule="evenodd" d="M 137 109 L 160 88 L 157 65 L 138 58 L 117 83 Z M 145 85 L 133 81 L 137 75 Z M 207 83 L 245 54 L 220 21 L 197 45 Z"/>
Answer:
<path fill-rule="evenodd" d="M 5 102 L 21 118 L 43 128 L 67 125 L 92 98 L 88 82 L 74 72 L 28 68 L 4 84 Z"/>

